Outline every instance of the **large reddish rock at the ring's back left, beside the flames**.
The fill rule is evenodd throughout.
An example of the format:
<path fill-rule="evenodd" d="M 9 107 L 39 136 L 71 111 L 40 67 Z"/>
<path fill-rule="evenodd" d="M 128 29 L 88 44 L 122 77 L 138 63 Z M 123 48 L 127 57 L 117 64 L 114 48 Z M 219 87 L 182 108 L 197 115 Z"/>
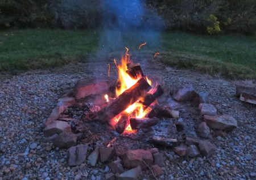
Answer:
<path fill-rule="evenodd" d="M 84 98 L 90 95 L 106 94 L 110 88 L 110 82 L 106 79 L 84 79 L 79 80 L 74 87 L 76 99 Z"/>

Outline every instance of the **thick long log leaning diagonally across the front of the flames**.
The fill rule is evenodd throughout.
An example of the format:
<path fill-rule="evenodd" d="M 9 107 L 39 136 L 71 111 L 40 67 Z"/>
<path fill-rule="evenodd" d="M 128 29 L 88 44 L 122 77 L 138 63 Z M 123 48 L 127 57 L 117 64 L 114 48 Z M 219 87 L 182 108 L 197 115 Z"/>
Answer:
<path fill-rule="evenodd" d="M 124 91 L 119 95 L 114 101 L 106 105 L 105 108 L 101 109 L 96 115 L 102 123 L 110 122 L 116 115 L 122 113 L 130 105 L 133 105 L 134 102 L 141 100 L 145 97 L 147 92 L 152 87 L 147 83 L 147 80 L 141 78 L 136 84 Z"/>

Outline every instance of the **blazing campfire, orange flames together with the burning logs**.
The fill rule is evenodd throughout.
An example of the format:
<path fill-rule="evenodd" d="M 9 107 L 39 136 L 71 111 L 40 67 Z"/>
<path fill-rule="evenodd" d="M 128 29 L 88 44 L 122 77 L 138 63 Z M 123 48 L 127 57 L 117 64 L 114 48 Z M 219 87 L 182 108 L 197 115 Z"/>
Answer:
<path fill-rule="evenodd" d="M 156 98 L 163 94 L 161 85 L 151 84 L 144 76 L 139 63 L 130 61 L 127 54 L 117 65 L 118 80 L 115 85 L 115 98 L 105 95 L 107 104 L 96 114 L 102 123 L 108 122 L 122 134 L 136 132 L 139 128 L 154 126 L 159 119 L 154 108 L 158 105 Z"/>

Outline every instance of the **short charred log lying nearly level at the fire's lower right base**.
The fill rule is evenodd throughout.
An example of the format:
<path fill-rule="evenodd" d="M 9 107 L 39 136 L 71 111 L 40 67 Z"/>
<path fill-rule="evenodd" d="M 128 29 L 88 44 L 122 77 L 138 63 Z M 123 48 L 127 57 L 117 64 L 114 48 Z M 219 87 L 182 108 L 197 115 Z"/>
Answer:
<path fill-rule="evenodd" d="M 139 130 L 155 126 L 159 121 L 159 118 L 130 118 L 130 125 L 133 130 Z"/>

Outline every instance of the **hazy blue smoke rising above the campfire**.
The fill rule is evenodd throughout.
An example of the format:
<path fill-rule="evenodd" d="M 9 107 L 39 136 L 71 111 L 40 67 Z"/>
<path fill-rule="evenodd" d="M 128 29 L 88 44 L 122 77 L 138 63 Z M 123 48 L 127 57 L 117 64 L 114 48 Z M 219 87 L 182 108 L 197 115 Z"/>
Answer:
<path fill-rule="evenodd" d="M 133 51 L 147 42 L 146 48 L 159 47 L 163 20 L 140 0 L 102 0 L 100 53 Z M 143 47 L 144 48 L 144 47 Z"/>

